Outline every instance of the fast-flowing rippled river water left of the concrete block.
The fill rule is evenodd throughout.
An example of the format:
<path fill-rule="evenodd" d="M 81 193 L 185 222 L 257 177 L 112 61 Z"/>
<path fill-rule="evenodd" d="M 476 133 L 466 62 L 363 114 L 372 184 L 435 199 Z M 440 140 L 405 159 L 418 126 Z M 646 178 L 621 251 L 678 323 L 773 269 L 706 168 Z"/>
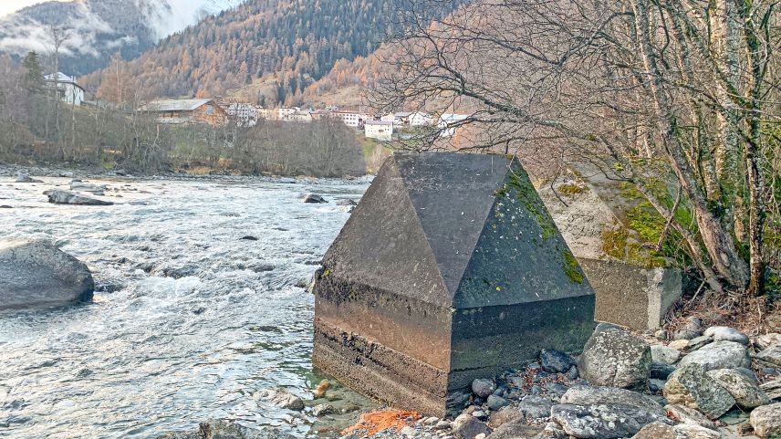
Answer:
<path fill-rule="evenodd" d="M 314 299 L 301 279 L 367 181 L 114 180 L 107 207 L 46 203 L 69 179 L 0 177 L 0 236 L 50 239 L 95 274 L 93 303 L 0 311 L 0 436 L 148 438 L 206 419 L 306 436 L 256 401 L 309 394 Z M 320 193 L 329 204 L 304 204 Z M 120 197 L 116 196 L 120 195 Z M 250 235 L 257 238 L 245 240 Z"/>

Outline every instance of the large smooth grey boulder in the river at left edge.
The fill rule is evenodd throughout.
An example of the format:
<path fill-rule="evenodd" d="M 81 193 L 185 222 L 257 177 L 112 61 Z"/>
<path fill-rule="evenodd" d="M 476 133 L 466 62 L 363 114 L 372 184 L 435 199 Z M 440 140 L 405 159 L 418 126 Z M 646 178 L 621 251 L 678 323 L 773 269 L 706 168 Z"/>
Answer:
<path fill-rule="evenodd" d="M 89 268 L 45 241 L 0 241 L 0 309 L 65 305 L 92 298 Z"/>

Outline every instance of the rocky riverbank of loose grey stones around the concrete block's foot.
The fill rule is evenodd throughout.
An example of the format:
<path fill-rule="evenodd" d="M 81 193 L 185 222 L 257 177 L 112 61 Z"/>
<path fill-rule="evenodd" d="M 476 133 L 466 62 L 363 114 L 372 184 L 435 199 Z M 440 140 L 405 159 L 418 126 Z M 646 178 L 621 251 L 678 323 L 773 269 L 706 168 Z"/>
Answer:
<path fill-rule="evenodd" d="M 380 439 L 781 437 L 781 334 L 748 337 L 726 327 L 703 330 L 695 319 L 690 323 L 687 333 L 675 334 L 677 340 L 666 340 L 665 331 L 657 333 L 661 339 L 640 337 L 600 324 L 577 357 L 543 350 L 526 368 L 475 380 L 455 419 L 402 414 L 381 430 L 371 420 L 388 416 L 369 415 L 340 439 L 365 437 L 378 427 L 373 437 Z M 296 408 L 318 417 L 316 427 L 340 412 L 328 403 L 301 401 Z M 226 425 L 203 424 L 201 432 L 223 431 Z M 286 437 L 242 431 L 220 437 Z"/>

